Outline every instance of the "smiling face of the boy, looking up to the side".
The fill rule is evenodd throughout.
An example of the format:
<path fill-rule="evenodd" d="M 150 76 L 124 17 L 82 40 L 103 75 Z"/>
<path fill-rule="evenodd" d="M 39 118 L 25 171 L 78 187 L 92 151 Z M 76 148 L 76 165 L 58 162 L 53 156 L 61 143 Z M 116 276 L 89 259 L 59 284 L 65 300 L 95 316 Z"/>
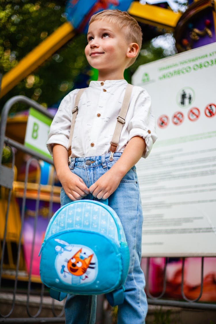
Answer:
<path fill-rule="evenodd" d="M 99 74 L 114 71 L 117 77 L 122 78 L 120 75 L 128 64 L 127 52 L 130 48 L 123 31 L 112 23 L 96 20 L 89 26 L 87 40 L 85 56 L 88 63 L 98 69 Z"/>

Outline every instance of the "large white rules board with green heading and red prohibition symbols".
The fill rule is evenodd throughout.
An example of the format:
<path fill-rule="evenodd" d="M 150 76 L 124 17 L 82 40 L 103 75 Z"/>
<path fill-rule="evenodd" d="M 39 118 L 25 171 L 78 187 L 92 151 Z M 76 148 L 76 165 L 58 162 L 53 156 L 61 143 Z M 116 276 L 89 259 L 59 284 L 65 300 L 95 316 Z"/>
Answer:
<path fill-rule="evenodd" d="M 141 65 L 158 139 L 137 164 L 142 256 L 216 256 L 216 43 Z"/>

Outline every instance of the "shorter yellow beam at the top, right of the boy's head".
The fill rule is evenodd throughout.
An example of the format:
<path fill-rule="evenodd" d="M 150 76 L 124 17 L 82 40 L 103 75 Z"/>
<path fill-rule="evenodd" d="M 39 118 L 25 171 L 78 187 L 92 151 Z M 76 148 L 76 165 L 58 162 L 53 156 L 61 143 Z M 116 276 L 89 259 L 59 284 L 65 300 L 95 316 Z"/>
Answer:
<path fill-rule="evenodd" d="M 167 30 L 174 30 L 181 17 L 180 13 L 175 13 L 170 9 L 148 4 L 141 5 L 138 1 L 132 2 L 128 13 L 137 21 Z"/>

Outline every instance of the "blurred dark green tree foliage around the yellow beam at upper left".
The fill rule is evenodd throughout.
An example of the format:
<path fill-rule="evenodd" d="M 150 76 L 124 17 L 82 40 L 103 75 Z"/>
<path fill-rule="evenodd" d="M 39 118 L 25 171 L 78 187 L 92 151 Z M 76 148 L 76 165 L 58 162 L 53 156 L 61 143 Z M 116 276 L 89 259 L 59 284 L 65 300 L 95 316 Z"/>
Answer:
<path fill-rule="evenodd" d="M 2 0 L 0 2 L 0 71 L 5 74 L 41 41 L 51 35 L 66 19 L 64 1 Z M 85 35 L 77 35 L 44 64 L 19 82 L 1 100 L 1 109 L 6 100 L 24 95 L 45 107 L 58 102 L 74 86 L 85 71 Z M 87 71 L 85 71 L 87 72 Z M 22 110 L 14 105 L 12 112 Z"/>

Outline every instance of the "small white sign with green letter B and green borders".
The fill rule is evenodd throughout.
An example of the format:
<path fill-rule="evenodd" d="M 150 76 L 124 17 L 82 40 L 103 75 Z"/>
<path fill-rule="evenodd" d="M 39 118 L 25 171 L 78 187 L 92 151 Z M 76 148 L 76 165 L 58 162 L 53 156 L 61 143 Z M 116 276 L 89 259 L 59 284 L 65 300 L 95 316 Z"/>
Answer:
<path fill-rule="evenodd" d="M 25 135 L 25 146 L 50 158 L 51 156 L 46 147 L 46 142 L 48 140 L 51 122 L 51 118 L 36 109 L 30 108 Z"/>

